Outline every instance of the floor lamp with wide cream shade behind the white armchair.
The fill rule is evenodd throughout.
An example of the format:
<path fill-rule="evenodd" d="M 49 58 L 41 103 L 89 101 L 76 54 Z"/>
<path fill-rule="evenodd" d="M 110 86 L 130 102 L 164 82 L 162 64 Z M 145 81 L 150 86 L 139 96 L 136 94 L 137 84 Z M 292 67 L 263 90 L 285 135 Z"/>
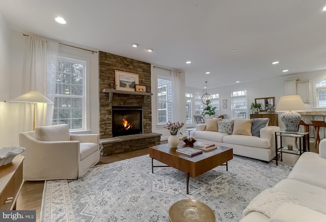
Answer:
<path fill-rule="evenodd" d="M 53 104 L 51 100 L 46 98 L 43 94 L 37 92 L 37 91 L 30 91 L 28 93 L 22 94 L 21 96 L 18 96 L 15 99 L 10 100 L 11 102 L 31 102 L 33 103 L 33 131 L 35 130 L 35 109 L 36 109 L 36 103 L 42 102 L 42 103 L 50 103 Z"/>

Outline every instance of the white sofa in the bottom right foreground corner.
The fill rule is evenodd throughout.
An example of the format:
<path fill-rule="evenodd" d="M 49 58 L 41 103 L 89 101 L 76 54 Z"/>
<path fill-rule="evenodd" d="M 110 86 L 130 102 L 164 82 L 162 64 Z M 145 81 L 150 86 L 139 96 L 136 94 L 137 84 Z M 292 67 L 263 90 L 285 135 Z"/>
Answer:
<path fill-rule="evenodd" d="M 323 139 L 319 154 L 303 153 L 287 179 L 255 197 L 244 209 L 240 221 L 326 221 L 325 203 L 326 139 Z"/>

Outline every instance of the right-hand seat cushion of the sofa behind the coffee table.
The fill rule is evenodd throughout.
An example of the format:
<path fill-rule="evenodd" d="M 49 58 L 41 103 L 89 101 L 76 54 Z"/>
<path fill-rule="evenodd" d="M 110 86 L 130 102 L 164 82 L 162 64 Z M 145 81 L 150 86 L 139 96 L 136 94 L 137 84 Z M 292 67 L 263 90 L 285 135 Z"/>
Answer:
<path fill-rule="evenodd" d="M 259 138 L 257 136 L 247 135 L 227 135 L 223 137 L 223 143 L 237 144 L 248 147 L 258 147 L 268 149 L 270 147 L 269 140 L 265 138 Z"/>

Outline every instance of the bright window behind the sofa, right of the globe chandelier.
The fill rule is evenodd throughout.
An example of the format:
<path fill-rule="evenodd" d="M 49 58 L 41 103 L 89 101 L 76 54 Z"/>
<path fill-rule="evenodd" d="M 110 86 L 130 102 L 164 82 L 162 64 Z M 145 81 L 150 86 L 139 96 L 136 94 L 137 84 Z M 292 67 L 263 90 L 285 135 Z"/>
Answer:
<path fill-rule="evenodd" d="M 232 119 L 247 119 L 247 90 L 234 91 L 232 97 Z"/>

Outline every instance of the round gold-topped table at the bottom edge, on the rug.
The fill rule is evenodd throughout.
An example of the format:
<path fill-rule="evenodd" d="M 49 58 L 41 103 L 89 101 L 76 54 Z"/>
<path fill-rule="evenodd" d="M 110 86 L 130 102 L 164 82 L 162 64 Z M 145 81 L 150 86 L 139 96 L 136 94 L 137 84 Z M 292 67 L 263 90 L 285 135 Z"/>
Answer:
<path fill-rule="evenodd" d="M 181 200 L 169 209 L 169 220 L 215 222 L 215 214 L 206 204 L 196 200 Z"/>

